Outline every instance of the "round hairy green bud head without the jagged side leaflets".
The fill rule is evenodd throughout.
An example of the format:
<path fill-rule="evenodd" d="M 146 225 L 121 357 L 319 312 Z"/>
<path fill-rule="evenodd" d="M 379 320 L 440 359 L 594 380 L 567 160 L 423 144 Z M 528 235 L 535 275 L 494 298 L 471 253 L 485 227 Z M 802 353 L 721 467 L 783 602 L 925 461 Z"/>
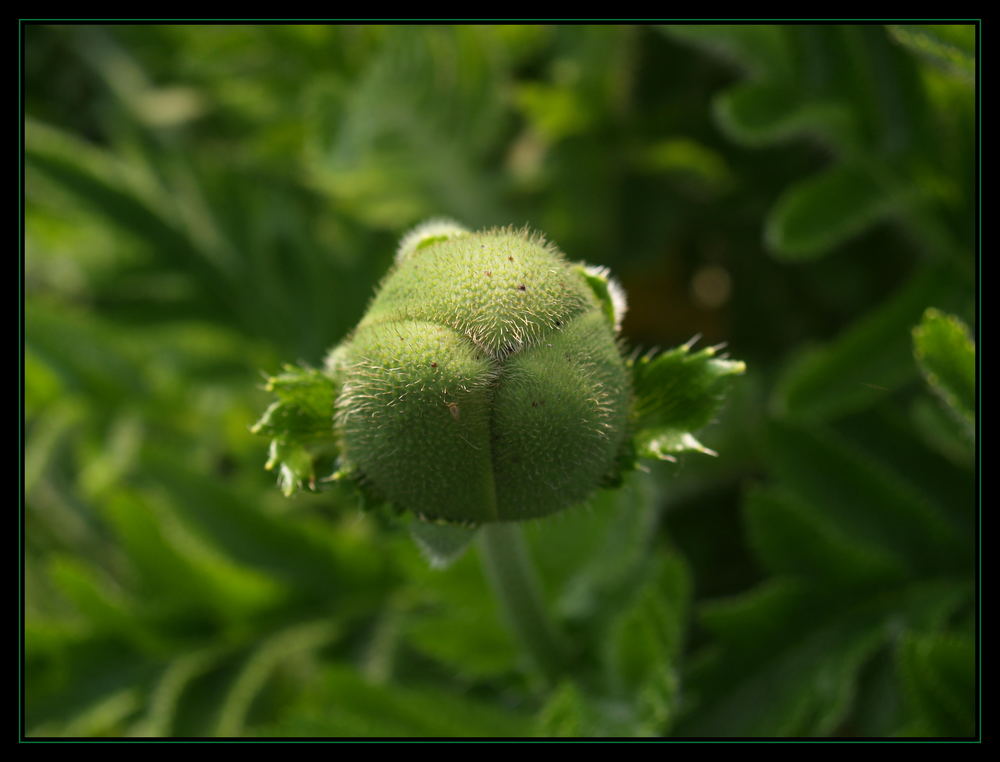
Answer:
<path fill-rule="evenodd" d="M 626 444 L 623 310 L 606 273 L 525 231 L 418 228 L 327 361 L 343 461 L 431 519 L 516 521 L 584 500 Z"/>

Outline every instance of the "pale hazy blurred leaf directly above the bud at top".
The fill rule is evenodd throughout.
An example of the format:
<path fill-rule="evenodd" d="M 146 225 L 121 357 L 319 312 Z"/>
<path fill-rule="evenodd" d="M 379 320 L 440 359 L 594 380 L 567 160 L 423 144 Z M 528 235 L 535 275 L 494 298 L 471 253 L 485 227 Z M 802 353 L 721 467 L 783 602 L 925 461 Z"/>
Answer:
<path fill-rule="evenodd" d="M 374 225 L 436 214 L 482 224 L 496 203 L 480 167 L 504 123 L 503 52 L 481 27 L 423 31 L 387 30 L 343 100 L 313 91 L 313 176 Z"/>

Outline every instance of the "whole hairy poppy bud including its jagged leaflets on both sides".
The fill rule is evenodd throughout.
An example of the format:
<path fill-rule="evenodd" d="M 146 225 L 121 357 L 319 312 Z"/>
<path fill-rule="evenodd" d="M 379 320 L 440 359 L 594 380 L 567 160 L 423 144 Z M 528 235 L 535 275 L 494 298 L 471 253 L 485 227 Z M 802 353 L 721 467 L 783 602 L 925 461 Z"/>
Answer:
<path fill-rule="evenodd" d="M 286 495 L 339 482 L 415 513 L 443 558 L 471 536 L 456 525 L 554 513 L 638 458 L 714 455 L 694 434 L 746 366 L 694 340 L 626 359 L 624 312 L 607 270 L 537 235 L 426 223 L 323 370 L 268 378 L 266 468 Z"/>

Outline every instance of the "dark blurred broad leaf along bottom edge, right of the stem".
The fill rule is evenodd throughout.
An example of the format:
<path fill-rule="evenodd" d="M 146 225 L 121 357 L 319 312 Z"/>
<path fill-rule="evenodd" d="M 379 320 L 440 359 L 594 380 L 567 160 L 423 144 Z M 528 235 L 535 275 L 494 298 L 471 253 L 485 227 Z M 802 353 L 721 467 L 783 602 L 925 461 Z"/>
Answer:
<path fill-rule="evenodd" d="M 848 716 L 860 670 L 891 628 L 939 623 L 963 591 L 911 584 L 824 594 L 787 577 L 703 609 L 716 648 L 690 680 L 694 736 L 828 736 Z"/>

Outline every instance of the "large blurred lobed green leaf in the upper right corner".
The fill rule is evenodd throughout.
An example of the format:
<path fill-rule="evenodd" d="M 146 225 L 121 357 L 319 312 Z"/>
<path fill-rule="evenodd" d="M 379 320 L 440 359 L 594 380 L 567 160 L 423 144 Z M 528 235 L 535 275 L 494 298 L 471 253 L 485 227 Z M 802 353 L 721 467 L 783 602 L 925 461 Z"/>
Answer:
<path fill-rule="evenodd" d="M 925 48 L 959 58 L 962 46 L 935 40 L 929 29 L 899 26 L 668 30 L 734 61 L 749 75 L 749 81 L 723 91 L 714 102 L 716 120 L 731 138 L 764 146 L 810 136 L 834 154 L 828 169 L 787 189 L 769 213 L 765 241 L 775 256 L 818 258 L 890 214 L 937 239 L 939 248 L 965 254 L 957 239 L 968 240 L 967 230 L 946 231 L 939 212 L 923 198 L 929 186 L 925 173 L 934 163 L 929 157 L 942 152 L 935 150 L 928 93 L 918 68 L 889 38 L 908 47 L 919 40 Z M 926 151 L 928 158 L 913 160 L 915 151 Z M 915 173 L 924 177 L 918 181 Z M 928 174 L 945 182 L 949 176 L 941 167 Z"/>

